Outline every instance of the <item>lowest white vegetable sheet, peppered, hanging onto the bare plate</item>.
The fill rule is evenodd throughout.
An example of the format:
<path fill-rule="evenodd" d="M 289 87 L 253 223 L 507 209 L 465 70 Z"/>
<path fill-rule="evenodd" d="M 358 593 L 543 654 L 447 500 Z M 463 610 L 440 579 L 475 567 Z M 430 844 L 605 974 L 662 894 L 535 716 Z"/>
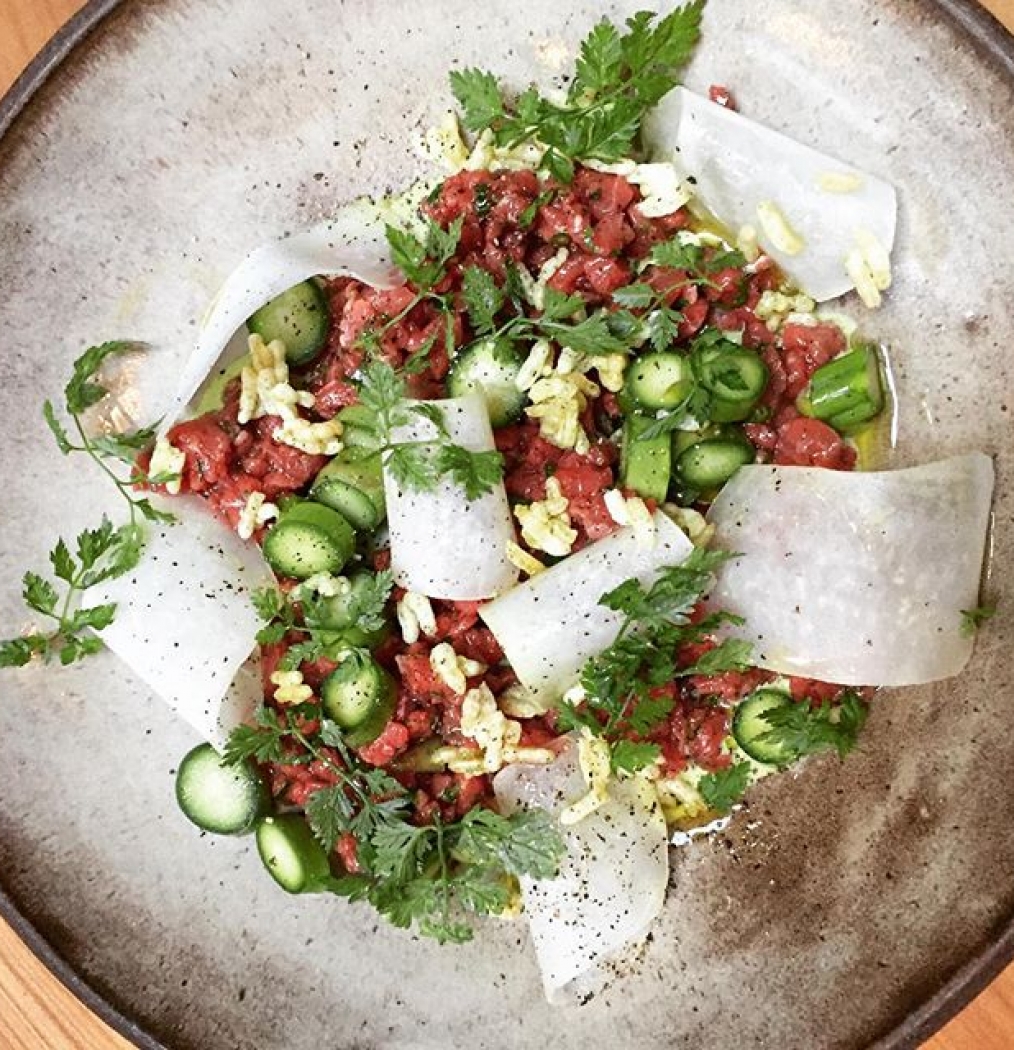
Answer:
<path fill-rule="evenodd" d="M 571 744 L 550 765 L 508 765 L 493 781 L 506 813 L 553 815 L 588 790 Z M 525 914 L 550 1003 L 582 1000 L 608 964 L 639 946 L 662 908 L 669 880 L 666 820 L 642 778 L 610 783 L 609 799 L 562 826 L 567 858 L 555 879 L 522 879 Z"/>

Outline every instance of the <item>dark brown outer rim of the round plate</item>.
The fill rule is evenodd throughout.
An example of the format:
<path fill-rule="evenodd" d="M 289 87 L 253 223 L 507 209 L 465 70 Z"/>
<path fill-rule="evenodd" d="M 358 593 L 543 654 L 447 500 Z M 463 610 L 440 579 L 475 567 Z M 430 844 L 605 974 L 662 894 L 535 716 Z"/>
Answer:
<path fill-rule="evenodd" d="M 0 99 L 0 140 L 70 52 L 124 0 L 88 0 L 36 56 Z M 954 23 L 975 49 L 1014 84 L 1014 36 L 978 0 L 932 0 L 942 16 Z M 0 885 L 0 918 L 73 995 L 113 1031 L 139 1050 L 171 1050 L 145 1032 L 114 1007 L 67 963 L 22 914 Z M 956 1016 L 1014 962 L 1014 917 L 994 942 L 971 959 L 901 1024 L 886 1032 L 869 1050 L 916 1050 L 922 1043 Z"/>

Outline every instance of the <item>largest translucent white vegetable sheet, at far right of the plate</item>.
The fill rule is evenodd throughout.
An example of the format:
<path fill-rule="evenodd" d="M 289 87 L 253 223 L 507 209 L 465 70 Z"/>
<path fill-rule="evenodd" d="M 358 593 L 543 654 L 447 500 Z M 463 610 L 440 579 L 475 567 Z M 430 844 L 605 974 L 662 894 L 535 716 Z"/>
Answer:
<path fill-rule="evenodd" d="M 851 686 L 957 674 L 972 651 L 993 463 L 972 453 L 904 470 L 745 466 L 709 520 L 726 563 L 711 596 L 756 663 Z"/>

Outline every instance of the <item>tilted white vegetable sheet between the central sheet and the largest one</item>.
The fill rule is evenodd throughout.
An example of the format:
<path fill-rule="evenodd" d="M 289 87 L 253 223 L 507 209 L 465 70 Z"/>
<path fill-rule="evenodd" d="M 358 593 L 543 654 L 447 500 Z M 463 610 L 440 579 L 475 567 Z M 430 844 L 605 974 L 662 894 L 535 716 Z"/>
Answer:
<path fill-rule="evenodd" d="M 522 685 L 541 700 L 557 699 L 588 659 L 612 645 L 624 617 L 598 600 L 625 580 L 651 584 L 660 569 L 685 561 L 693 545 L 660 510 L 655 543 L 620 529 L 480 609 Z"/>

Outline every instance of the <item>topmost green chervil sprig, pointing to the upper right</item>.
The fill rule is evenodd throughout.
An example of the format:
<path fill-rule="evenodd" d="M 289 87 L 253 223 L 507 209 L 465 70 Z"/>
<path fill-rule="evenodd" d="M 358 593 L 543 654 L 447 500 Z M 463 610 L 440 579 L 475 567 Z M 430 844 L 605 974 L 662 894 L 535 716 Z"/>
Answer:
<path fill-rule="evenodd" d="M 703 0 L 695 0 L 657 21 L 639 12 L 627 20 L 626 33 L 604 19 L 580 45 L 562 105 L 535 88 L 510 103 L 490 74 L 456 70 L 450 85 L 462 123 L 473 132 L 488 128 L 500 146 L 541 144 L 541 166 L 562 182 L 570 182 L 578 161 L 631 156 L 645 114 L 678 83 L 700 36 L 702 9 Z"/>

